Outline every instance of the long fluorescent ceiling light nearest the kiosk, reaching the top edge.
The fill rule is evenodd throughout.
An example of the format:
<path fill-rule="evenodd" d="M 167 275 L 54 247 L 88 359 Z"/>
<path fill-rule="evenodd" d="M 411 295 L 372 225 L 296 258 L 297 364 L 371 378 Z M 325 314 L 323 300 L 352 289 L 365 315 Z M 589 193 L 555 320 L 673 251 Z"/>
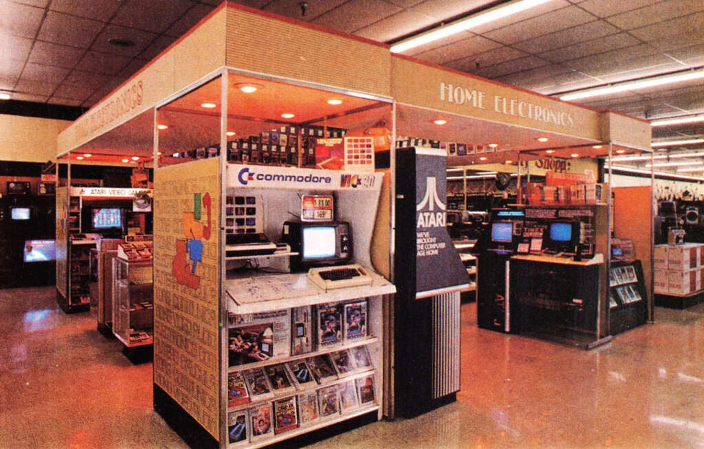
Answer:
<path fill-rule="evenodd" d="M 425 33 L 418 34 L 417 36 L 404 39 L 403 41 L 391 46 L 391 53 L 402 53 L 403 51 L 410 50 L 410 48 L 415 48 L 417 46 L 427 44 L 428 42 L 444 39 L 445 37 L 452 36 L 453 34 L 471 30 L 479 25 L 484 25 L 485 23 L 493 22 L 494 20 L 520 13 L 521 11 L 526 11 L 527 9 L 534 8 L 535 6 L 547 3 L 548 1 L 550 0 L 512 1 L 508 4 L 497 6 L 496 8 L 487 9 L 486 11 L 470 15 L 469 17 L 449 23 L 448 25 L 443 25 L 434 30 L 429 30 Z"/>

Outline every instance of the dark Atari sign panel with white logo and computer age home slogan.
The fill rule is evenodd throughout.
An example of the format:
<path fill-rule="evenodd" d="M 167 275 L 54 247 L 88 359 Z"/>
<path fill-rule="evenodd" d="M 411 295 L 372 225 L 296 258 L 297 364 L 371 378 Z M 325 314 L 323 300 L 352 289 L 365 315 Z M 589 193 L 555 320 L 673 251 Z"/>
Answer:
<path fill-rule="evenodd" d="M 415 169 L 416 292 L 466 284 L 467 271 L 445 227 L 445 157 L 417 153 Z"/>

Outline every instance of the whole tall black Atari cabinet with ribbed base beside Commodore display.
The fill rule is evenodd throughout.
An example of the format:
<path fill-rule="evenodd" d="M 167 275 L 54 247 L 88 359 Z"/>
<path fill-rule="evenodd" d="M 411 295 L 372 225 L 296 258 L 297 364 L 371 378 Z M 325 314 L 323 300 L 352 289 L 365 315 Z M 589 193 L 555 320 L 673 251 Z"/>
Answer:
<path fill-rule="evenodd" d="M 460 289 L 469 278 L 445 227 L 445 170 L 441 150 L 396 151 L 394 388 L 403 417 L 450 403 L 460 389 Z"/>

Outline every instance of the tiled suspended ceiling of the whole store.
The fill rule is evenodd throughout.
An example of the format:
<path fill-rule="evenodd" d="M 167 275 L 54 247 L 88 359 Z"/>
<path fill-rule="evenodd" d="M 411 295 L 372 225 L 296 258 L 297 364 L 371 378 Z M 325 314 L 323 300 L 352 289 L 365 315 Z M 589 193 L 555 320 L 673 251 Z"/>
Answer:
<path fill-rule="evenodd" d="M 387 44 L 503 4 L 492 0 L 239 1 Z M 0 0 L 0 91 L 89 108 L 220 0 Z M 108 39 L 129 39 L 115 46 Z M 403 54 L 546 95 L 704 66 L 704 1 L 551 0 Z M 577 100 L 641 118 L 704 112 L 704 80 Z M 703 124 L 653 128 L 653 141 Z M 422 137 L 422 136 L 420 136 Z M 693 150 L 688 145 L 669 150 Z"/>

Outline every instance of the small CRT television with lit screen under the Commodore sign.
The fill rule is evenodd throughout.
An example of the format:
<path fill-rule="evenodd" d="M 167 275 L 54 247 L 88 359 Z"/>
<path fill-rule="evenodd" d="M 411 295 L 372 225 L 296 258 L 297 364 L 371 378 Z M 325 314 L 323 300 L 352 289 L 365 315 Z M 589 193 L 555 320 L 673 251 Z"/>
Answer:
<path fill-rule="evenodd" d="M 291 257 L 292 271 L 348 263 L 352 259 L 352 233 L 346 221 L 285 221 L 282 240 L 291 246 L 291 252 L 299 254 Z"/>

